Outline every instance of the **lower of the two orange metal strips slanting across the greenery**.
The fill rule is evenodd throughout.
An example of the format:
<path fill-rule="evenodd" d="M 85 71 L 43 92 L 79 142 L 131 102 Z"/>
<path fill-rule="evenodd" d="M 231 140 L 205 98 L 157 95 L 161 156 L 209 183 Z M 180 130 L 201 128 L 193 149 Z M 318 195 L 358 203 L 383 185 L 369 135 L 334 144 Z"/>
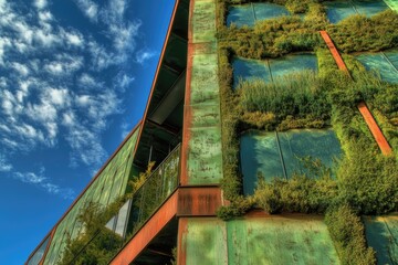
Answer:
<path fill-rule="evenodd" d="M 367 126 L 369 127 L 369 130 L 371 135 L 374 136 L 377 145 L 379 146 L 383 155 L 388 156 L 392 152 L 392 149 L 390 145 L 388 144 L 386 137 L 383 135 L 383 131 L 378 127 L 375 118 L 373 117 L 369 108 L 366 106 L 364 102 L 358 104 L 358 109 L 364 117 Z"/>

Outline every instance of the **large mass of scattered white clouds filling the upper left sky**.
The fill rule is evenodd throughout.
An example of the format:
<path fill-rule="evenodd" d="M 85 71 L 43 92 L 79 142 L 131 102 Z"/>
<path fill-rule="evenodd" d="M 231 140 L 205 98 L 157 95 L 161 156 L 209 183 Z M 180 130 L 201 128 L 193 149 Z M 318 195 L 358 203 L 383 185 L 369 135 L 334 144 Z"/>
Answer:
<path fill-rule="evenodd" d="M 59 142 L 69 146 L 72 163 L 98 168 L 107 156 L 101 136 L 109 118 L 123 112 L 123 93 L 135 81 L 119 66 L 154 56 L 148 50 L 135 53 L 142 22 L 127 18 L 129 1 L 75 0 L 87 22 L 101 29 L 96 33 L 62 26 L 51 12 L 54 4 L 0 0 L 0 68 L 6 73 L 0 77 L 3 171 L 15 170 L 8 163 L 12 161 L 8 153 L 29 153 Z M 116 77 L 109 77 L 111 71 Z M 14 177 L 40 180 L 33 173 Z M 39 183 L 56 190 L 50 182 Z"/>

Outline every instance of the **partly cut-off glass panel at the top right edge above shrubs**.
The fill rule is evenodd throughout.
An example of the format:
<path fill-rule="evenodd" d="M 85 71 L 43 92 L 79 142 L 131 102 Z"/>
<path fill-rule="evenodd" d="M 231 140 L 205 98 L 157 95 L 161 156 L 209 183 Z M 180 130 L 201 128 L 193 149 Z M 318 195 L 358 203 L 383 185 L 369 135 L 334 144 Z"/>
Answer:
<path fill-rule="evenodd" d="M 381 1 L 331 1 L 324 3 L 327 18 L 332 23 L 337 23 L 353 14 L 364 14 L 366 17 L 375 15 L 388 9 L 388 6 Z"/>

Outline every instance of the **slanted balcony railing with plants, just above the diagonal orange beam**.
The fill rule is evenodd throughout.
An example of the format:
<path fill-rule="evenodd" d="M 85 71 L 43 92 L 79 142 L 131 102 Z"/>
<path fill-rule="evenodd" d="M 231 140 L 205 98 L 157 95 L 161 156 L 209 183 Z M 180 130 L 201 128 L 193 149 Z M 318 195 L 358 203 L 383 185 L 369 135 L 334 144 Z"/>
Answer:
<path fill-rule="evenodd" d="M 106 225 L 61 264 L 108 264 L 178 187 L 180 145 L 153 171 Z"/>

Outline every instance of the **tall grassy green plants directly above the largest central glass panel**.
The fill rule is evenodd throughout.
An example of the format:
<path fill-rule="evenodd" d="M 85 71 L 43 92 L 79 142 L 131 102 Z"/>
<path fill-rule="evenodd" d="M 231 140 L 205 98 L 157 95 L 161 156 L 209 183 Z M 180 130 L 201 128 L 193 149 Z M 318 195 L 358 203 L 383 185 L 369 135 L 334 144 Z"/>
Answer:
<path fill-rule="evenodd" d="M 272 83 L 262 80 L 243 81 L 237 91 L 241 95 L 240 106 L 244 112 L 274 113 L 279 119 L 292 115 L 314 119 L 329 118 L 331 105 L 314 72 L 285 75 Z"/>

